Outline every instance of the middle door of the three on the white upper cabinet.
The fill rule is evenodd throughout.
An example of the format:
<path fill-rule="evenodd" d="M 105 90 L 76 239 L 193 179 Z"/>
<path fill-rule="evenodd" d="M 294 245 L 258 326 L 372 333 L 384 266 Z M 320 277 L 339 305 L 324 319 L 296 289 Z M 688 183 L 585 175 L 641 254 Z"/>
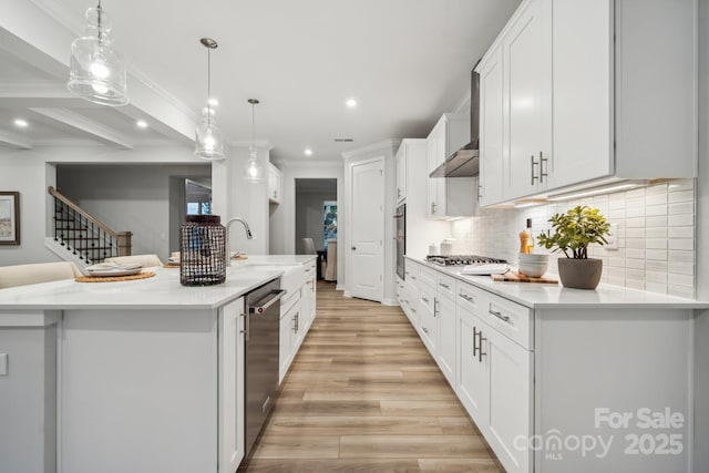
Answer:
<path fill-rule="evenodd" d="M 551 0 L 531 0 L 503 40 L 505 109 L 504 198 L 534 194 L 546 183 L 545 160 L 551 154 L 551 24 L 544 7 Z"/>

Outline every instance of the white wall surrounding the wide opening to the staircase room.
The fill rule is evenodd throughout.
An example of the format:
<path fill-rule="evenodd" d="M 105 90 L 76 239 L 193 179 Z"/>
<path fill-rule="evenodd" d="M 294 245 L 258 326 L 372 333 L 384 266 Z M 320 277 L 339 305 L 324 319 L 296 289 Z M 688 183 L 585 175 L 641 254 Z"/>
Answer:
<path fill-rule="evenodd" d="M 268 199 L 266 181 L 244 181 L 246 147 L 227 147 L 227 158 L 212 163 L 214 213 L 224 223 L 229 217 L 245 218 L 255 238 L 246 240 L 243 229 L 232 232 L 232 249 L 250 254 L 268 251 Z M 259 148 L 258 158 L 268 162 L 268 150 Z M 195 157 L 192 146 L 144 146 L 117 150 L 111 146 L 51 146 L 32 150 L 0 147 L 0 188 L 20 192 L 21 244 L 0 246 L 0 266 L 55 261 L 44 247 L 51 235 L 52 200 L 48 186 L 55 186 L 55 163 L 65 164 L 205 164 Z M 127 183 L 125 183 L 129 185 Z M 238 225 L 238 224 L 237 224 Z M 240 226 L 240 225 L 239 225 Z M 166 230 L 165 230 L 166 232 Z M 158 236 L 161 230 L 155 232 Z M 151 251 L 153 253 L 153 251 Z"/>

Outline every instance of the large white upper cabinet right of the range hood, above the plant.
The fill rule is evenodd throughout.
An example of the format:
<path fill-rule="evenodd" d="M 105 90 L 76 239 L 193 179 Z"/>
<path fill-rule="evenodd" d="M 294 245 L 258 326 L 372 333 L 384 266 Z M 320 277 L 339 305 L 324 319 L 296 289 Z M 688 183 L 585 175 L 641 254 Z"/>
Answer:
<path fill-rule="evenodd" d="M 482 205 L 693 177 L 696 21 L 693 2 L 523 1 L 476 69 Z"/>

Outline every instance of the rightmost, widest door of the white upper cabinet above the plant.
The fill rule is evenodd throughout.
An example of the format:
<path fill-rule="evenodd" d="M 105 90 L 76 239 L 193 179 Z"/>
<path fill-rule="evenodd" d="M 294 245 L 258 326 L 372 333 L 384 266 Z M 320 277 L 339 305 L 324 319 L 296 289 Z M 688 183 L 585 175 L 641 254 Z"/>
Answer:
<path fill-rule="evenodd" d="M 614 172 L 613 3 L 554 1 L 549 188 Z"/>

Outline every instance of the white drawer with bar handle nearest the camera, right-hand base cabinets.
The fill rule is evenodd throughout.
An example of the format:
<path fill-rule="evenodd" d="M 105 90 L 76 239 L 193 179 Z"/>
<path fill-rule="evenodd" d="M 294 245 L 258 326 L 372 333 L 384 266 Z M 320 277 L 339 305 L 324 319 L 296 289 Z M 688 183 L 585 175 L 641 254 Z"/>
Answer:
<path fill-rule="evenodd" d="M 480 316 L 491 327 L 522 347 L 532 350 L 532 309 L 502 297 L 485 294 Z"/>

